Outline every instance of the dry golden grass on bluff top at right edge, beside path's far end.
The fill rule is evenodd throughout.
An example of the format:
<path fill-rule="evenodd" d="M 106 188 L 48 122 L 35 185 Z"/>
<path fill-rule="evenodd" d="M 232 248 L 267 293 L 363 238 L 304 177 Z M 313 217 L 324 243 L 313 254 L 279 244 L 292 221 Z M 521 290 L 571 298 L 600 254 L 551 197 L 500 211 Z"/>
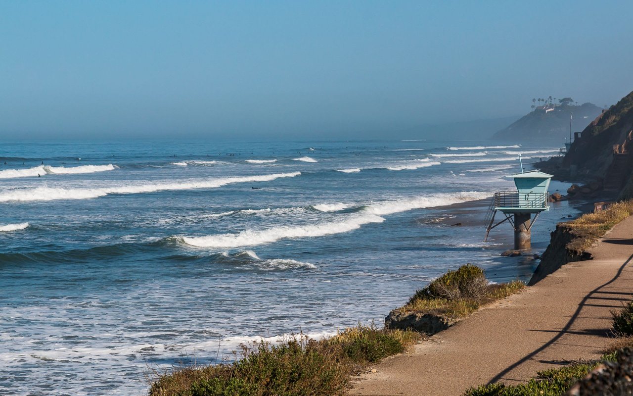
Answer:
<path fill-rule="evenodd" d="M 575 236 L 567 244 L 567 249 L 575 252 L 584 252 L 606 231 L 609 231 L 613 226 L 632 214 L 633 200 L 627 200 L 614 203 L 606 210 L 584 214 L 578 219 L 565 222 L 565 227 L 568 227 Z"/>

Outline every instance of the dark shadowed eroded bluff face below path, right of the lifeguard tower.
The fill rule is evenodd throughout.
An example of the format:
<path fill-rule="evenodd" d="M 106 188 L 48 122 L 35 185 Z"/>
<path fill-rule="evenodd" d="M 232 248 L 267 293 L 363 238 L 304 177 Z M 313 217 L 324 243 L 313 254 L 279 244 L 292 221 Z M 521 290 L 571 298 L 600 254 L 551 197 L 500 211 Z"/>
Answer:
<path fill-rule="evenodd" d="M 534 271 L 528 286 L 532 286 L 563 265 L 572 261 L 591 260 L 591 253 L 580 252 L 570 247 L 570 243 L 577 238 L 567 223 L 558 223 L 552 231 L 549 246 L 541 256 L 541 263 Z"/>

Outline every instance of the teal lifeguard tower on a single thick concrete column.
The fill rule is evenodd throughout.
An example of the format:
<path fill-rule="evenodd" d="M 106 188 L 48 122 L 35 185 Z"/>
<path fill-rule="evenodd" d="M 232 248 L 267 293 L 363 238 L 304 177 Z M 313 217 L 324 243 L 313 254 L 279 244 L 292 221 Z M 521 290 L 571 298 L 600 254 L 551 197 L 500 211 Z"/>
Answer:
<path fill-rule="evenodd" d="M 549 210 L 548 188 L 553 176 L 540 170 L 532 170 L 506 177 L 514 179 L 517 191 L 494 193 L 486 215 L 486 240 L 491 229 L 507 221 L 512 224 L 515 231 L 515 249 L 529 249 L 532 243 L 532 224 L 541 212 Z M 495 224 L 494 217 L 497 212 L 501 212 L 505 219 Z"/>

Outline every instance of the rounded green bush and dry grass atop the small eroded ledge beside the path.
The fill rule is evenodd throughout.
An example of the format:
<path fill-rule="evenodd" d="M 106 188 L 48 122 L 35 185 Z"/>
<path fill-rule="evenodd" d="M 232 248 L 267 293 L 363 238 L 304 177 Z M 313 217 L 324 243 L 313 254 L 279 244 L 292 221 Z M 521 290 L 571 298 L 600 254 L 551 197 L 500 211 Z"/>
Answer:
<path fill-rule="evenodd" d="M 465 264 L 416 291 L 408 303 L 395 311 L 464 317 L 482 305 L 508 297 L 524 287 L 522 281 L 491 284 L 484 270 L 476 265 Z"/>

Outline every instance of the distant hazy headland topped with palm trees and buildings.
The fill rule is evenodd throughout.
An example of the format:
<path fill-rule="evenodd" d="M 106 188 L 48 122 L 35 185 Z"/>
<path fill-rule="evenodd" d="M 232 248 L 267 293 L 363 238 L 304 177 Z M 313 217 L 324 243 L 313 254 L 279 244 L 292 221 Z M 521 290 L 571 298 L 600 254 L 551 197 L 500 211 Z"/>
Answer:
<path fill-rule="evenodd" d="M 573 113 L 576 123 L 589 122 L 602 112 L 592 103 L 573 106 L 549 105 L 536 108 L 504 129 L 496 132 L 492 139 L 501 141 L 565 141 L 569 136 L 569 117 Z"/>

